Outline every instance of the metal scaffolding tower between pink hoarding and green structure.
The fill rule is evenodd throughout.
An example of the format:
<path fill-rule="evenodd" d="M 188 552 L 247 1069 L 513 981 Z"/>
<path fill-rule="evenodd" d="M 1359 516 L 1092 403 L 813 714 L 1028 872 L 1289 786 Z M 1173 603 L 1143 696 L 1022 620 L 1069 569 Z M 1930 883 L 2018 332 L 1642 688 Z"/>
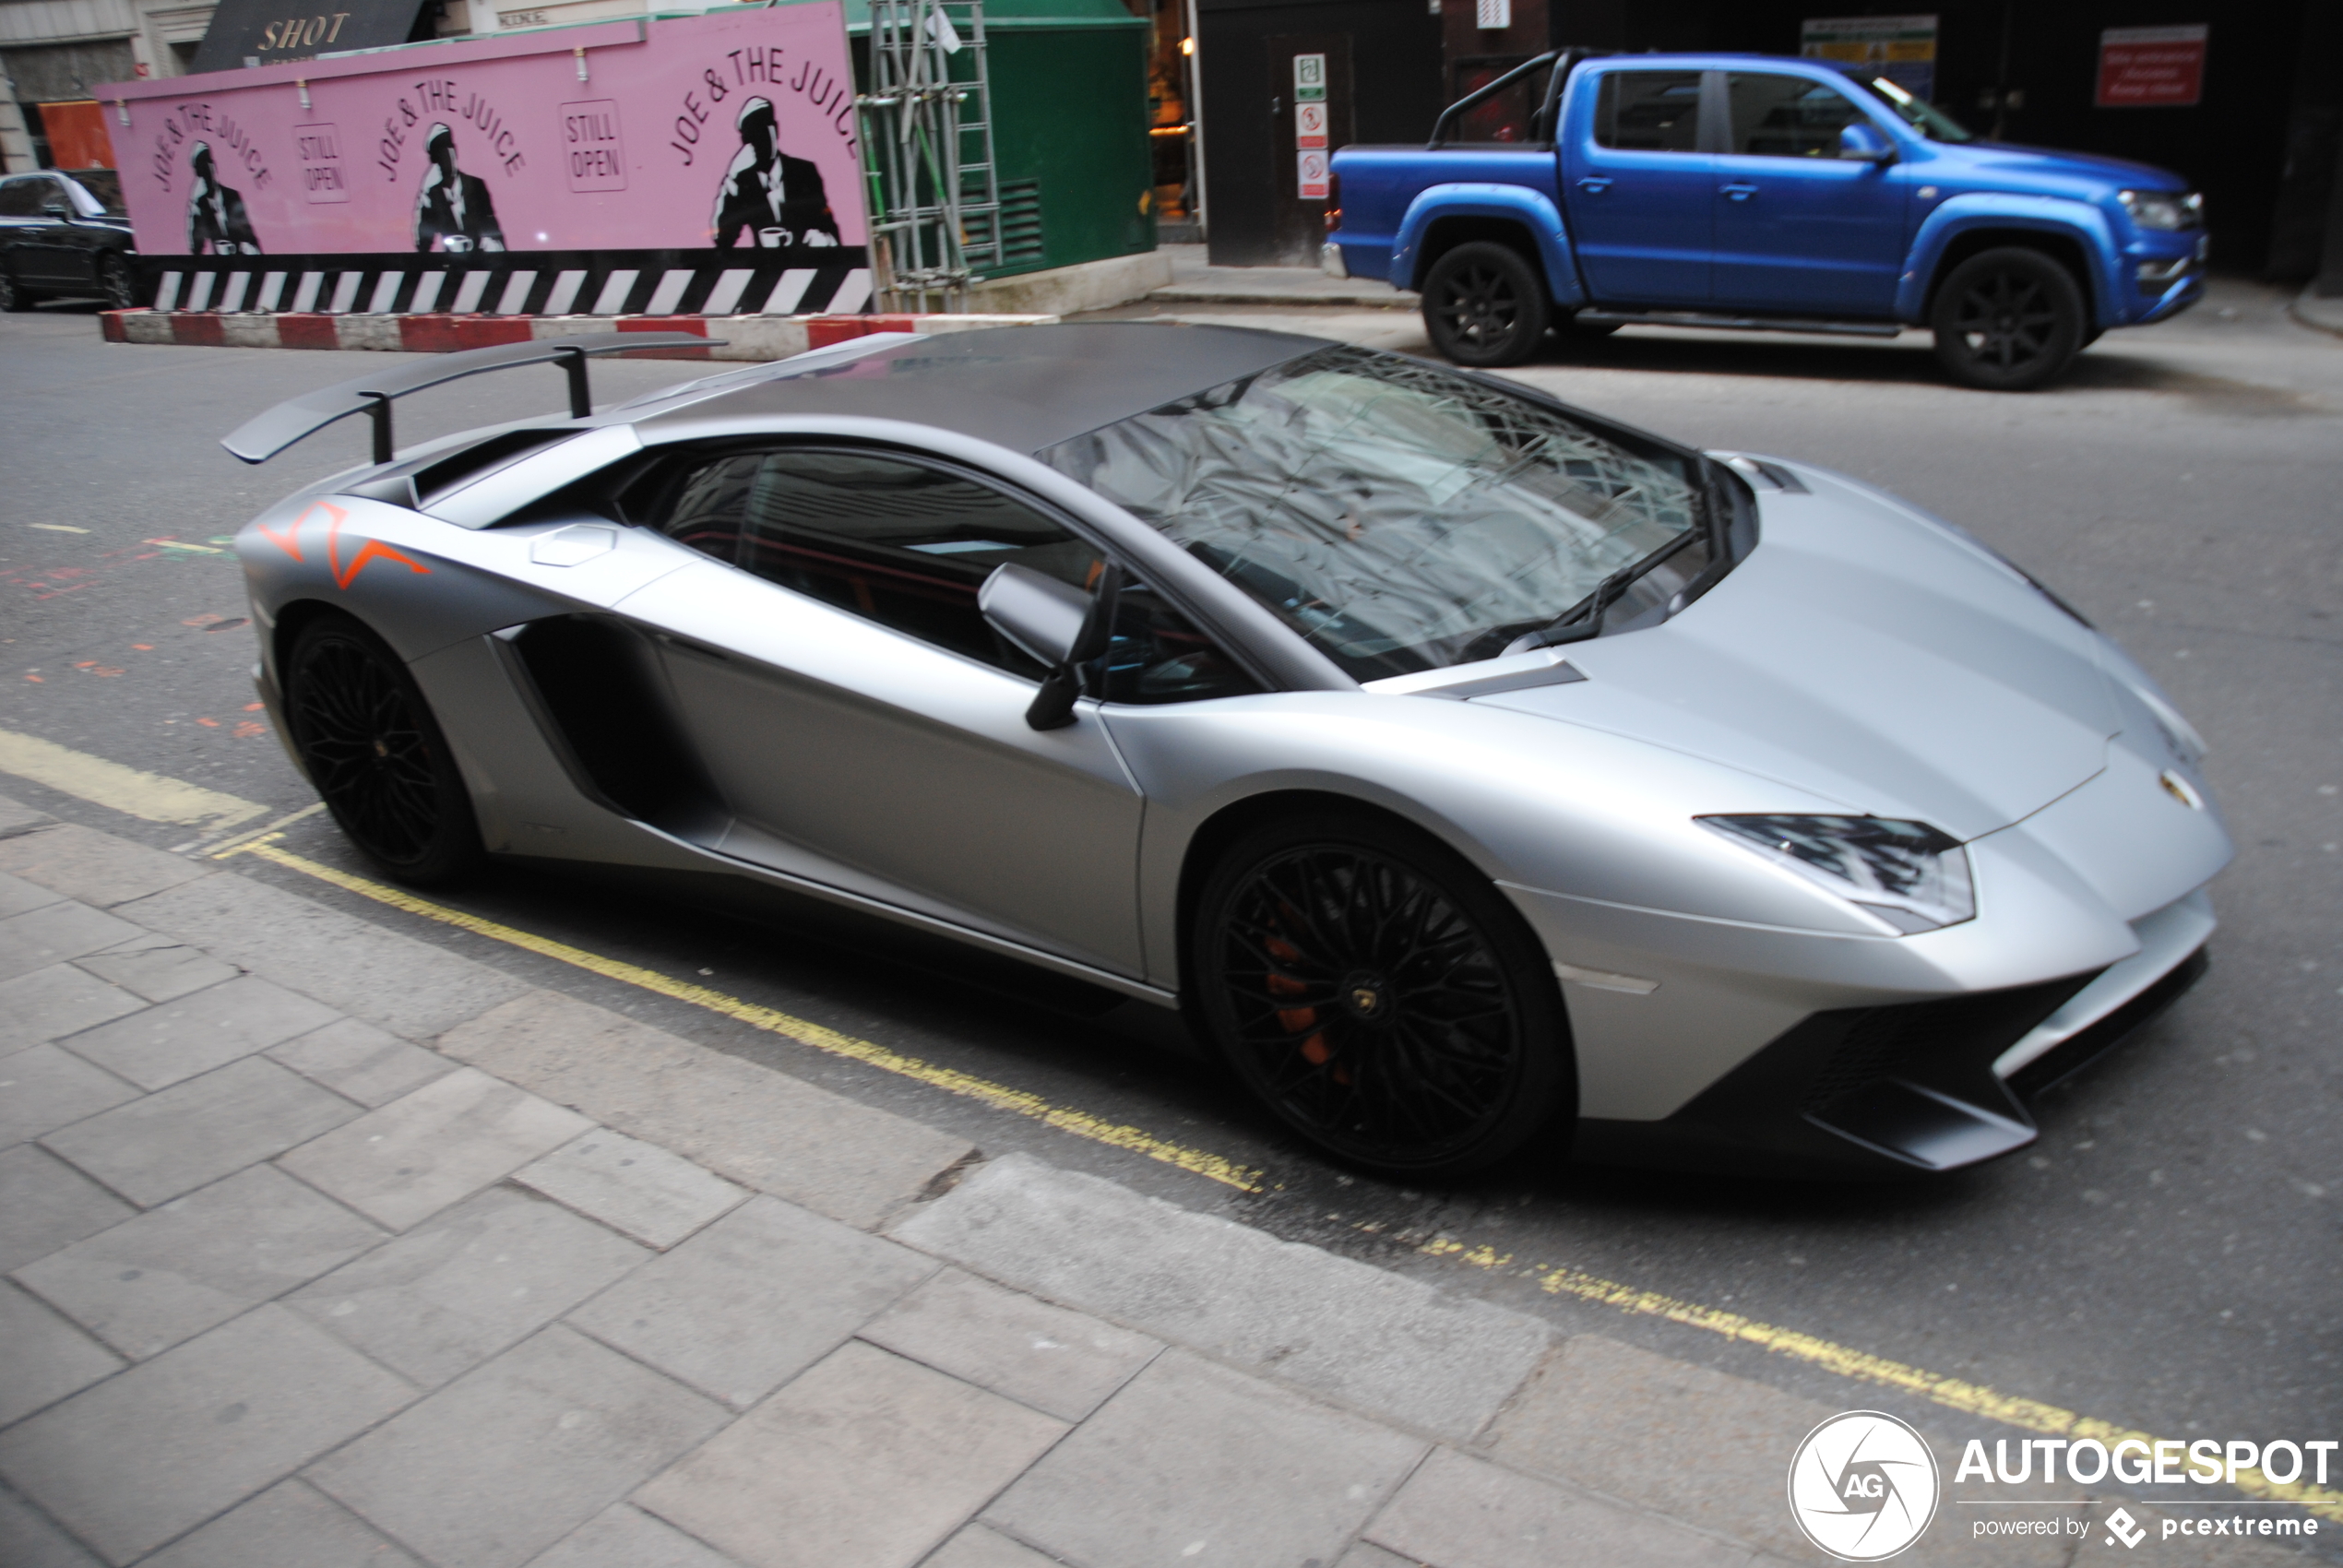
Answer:
<path fill-rule="evenodd" d="M 886 309 L 968 309 L 1003 265 L 984 0 L 872 0 L 862 169 Z"/>

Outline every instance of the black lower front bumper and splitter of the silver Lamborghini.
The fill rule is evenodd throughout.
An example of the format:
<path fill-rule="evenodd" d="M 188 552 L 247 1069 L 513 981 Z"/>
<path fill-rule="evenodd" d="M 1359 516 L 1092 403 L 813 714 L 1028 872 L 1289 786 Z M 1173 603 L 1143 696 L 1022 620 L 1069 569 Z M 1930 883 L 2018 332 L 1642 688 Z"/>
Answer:
<path fill-rule="evenodd" d="M 1921 1177 L 2034 1141 L 2027 1102 L 2113 1050 L 2207 970 L 2205 949 L 2008 1083 L 1994 1062 L 2097 975 L 1813 1013 L 1657 1123 L 1582 1120 L 1574 1158 L 1781 1177 Z"/>

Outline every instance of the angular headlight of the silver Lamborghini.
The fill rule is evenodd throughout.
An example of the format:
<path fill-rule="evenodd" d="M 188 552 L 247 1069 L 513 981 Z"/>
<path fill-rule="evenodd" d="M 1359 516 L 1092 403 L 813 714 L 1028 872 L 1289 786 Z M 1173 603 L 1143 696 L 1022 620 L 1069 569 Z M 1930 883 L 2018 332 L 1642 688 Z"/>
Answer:
<path fill-rule="evenodd" d="M 1938 930 L 1977 914 L 1961 841 L 1928 823 L 1884 816 L 1699 816 L 1774 865 L 1797 872 L 1895 930 Z"/>

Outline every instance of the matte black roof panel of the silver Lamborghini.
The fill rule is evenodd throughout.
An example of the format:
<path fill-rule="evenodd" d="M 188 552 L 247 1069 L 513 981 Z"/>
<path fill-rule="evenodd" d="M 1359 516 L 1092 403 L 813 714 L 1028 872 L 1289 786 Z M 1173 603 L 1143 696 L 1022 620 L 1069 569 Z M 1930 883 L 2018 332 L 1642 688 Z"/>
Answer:
<path fill-rule="evenodd" d="M 1296 333 L 1155 321 L 940 333 L 829 370 L 724 391 L 644 424 L 862 415 L 1038 452 L 1324 347 L 1324 338 Z"/>

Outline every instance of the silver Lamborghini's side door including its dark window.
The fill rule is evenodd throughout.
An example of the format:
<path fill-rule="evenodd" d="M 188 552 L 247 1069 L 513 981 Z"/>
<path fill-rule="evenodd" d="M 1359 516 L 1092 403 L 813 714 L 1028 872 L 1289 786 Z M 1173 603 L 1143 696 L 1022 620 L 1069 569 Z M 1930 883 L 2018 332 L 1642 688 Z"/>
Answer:
<path fill-rule="evenodd" d="M 719 851 L 1143 970 L 1139 790 L 1092 703 L 1026 724 L 1043 670 L 977 612 L 1010 560 L 1094 581 L 1094 544 L 984 476 L 829 445 L 684 462 L 656 525 L 724 563 L 619 605 L 731 804 Z"/>

